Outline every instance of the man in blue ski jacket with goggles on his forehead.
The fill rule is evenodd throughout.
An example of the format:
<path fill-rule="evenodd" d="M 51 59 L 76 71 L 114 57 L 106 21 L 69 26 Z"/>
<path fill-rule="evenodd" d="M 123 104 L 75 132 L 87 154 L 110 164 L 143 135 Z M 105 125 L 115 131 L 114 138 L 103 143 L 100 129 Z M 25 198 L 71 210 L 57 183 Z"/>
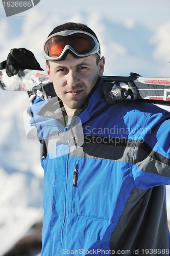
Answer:
<path fill-rule="evenodd" d="M 30 108 L 47 148 L 41 255 L 169 255 L 170 114 L 147 103 L 106 103 L 105 59 L 83 24 L 56 27 L 44 57 L 58 97 L 36 98 Z M 0 68 L 28 68 L 8 59 Z"/>

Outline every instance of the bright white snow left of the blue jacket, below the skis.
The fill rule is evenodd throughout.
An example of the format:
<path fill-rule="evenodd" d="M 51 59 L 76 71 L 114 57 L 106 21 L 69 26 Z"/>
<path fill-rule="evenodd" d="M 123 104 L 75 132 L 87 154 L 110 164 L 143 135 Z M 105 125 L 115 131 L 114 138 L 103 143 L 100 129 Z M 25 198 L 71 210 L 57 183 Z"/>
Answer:
<path fill-rule="evenodd" d="M 27 138 L 23 125 L 27 93 L 1 90 L 0 101 L 0 255 L 4 255 L 42 219 L 43 170 L 39 142 Z"/>

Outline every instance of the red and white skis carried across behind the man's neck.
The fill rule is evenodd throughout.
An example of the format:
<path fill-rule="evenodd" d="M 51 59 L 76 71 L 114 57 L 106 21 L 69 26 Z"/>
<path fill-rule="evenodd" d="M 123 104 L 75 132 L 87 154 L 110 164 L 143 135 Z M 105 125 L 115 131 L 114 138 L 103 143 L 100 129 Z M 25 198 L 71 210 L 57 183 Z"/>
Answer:
<path fill-rule="evenodd" d="M 103 76 L 103 79 L 103 91 L 109 104 L 119 100 L 170 104 L 170 78 L 143 77 L 130 73 L 130 76 Z M 25 69 L 8 77 L 5 70 L 0 70 L 0 87 L 4 90 L 31 91 L 45 99 L 56 96 L 45 71 Z"/>

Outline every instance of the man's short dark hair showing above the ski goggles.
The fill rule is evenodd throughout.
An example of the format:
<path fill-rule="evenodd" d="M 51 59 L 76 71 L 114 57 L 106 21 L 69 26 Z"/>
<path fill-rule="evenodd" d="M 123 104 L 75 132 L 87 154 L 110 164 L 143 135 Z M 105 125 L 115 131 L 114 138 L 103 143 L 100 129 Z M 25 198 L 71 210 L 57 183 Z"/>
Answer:
<path fill-rule="evenodd" d="M 92 29 L 90 29 L 87 25 L 82 24 L 82 23 L 74 23 L 74 22 L 67 22 L 67 23 L 64 23 L 62 25 L 59 25 L 59 26 L 55 27 L 48 36 L 51 36 L 51 35 L 53 35 L 53 34 L 55 34 L 57 32 L 65 31 L 65 30 L 82 30 L 82 31 L 86 31 L 86 32 L 90 33 L 91 35 L 93 35 L 98 40 L 98 37 L 96 36 L 94 31 L 92 31 Z M 98 40 L 98 42 L 99 42 L 99 40 Z M 98 54 L 95 54 L 95 56 L 96 56 L 96 63 L 98 65 L 100 57 L 99 57 Z M 50 67 L 49 62 L 47 60 L 46 60 L 46 63 L 48 65 L 48 67 Z"/>

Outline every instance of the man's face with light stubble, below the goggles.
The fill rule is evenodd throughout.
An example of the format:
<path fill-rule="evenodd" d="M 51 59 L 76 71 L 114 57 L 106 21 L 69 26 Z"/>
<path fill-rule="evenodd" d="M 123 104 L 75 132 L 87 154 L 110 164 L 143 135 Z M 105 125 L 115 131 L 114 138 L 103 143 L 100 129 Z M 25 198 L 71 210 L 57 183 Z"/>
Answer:
<path fill-rule="evenodd" d="M 96 80 L 103 75 L 104 57 L 97 65 L 94 55 L 75 58 L 68 53 L 64 60 L 50 61 L 50 69 L 46 68 L 67 115 L 73 115 L 83 108 Z"/>

